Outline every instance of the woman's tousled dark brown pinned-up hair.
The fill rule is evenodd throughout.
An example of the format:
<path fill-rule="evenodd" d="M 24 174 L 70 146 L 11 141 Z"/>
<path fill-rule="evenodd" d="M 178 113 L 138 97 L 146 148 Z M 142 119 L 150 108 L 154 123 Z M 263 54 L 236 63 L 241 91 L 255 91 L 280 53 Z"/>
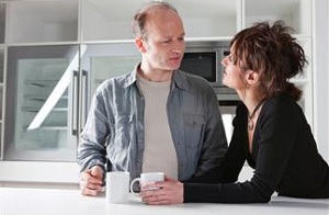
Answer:
<path fill-rule="evenodd" d="M 242 70 L 259 72 L 261 88 L 266 97 L 287 93 L 296 101 L 302 91 L 288 79 L 303 73 L 307 64 L 304 49 L 283 21 L 256 23 L 240 31 L 231 41 L 234 64 Z"/>

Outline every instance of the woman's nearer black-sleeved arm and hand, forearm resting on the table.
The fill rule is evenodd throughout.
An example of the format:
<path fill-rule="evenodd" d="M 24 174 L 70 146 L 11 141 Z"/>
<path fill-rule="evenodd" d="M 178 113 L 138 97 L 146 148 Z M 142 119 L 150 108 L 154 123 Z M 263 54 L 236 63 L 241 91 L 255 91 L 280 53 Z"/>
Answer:
<path fill-rule="evenodd" d="M 147 204 L 183 202 L 266 203 L 276 189 L 293 151 L 296 121 L 291 106 L 270 103 L 258 123 L 257 166 L 250 181 L 237 183 L 157 183 L 158 191 L 141 193 Z M 256 135 L 256 136 L 257 136 Z M 183 188 L 182 188 L 183 186 Z M 179 192 L 178 192 L 179 191 Z M 182 192 L 183 191 L 183 194 Z M 179 201 L 180 200 L 180 201 Z"/>

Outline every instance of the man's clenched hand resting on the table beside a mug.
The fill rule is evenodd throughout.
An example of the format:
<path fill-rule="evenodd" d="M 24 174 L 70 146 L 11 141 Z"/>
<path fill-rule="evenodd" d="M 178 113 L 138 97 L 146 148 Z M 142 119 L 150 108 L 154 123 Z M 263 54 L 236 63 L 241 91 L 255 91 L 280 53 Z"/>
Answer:
<path fill-rule="evenodd" d="M 103 191 L 103 174 L 104 171 L 99 166 L 83 171 L 80 176 L 80 189 L 82 195 L 95 196 L 100 191 Z"/>

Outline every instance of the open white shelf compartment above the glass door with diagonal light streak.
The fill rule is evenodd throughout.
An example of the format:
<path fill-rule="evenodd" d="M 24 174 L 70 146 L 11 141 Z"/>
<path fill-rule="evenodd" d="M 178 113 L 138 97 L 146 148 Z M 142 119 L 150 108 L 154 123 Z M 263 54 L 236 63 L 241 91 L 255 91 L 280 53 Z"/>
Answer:
<path fill-rule="evenodd" d="M 8 1 L 8 44 L 77 42 L 79 0 Z"/>

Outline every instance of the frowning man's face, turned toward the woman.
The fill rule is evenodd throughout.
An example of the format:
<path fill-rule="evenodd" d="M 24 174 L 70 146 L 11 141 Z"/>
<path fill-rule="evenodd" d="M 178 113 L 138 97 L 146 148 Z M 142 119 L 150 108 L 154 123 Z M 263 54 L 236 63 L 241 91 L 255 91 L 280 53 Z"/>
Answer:
<path fill-rule="evenodd" d="M 179 15 L 160 10 L 146 23 L 143 60 L 152 70 L 174 70 L 181 65 L 185 50 L 184 27 Z"/>

